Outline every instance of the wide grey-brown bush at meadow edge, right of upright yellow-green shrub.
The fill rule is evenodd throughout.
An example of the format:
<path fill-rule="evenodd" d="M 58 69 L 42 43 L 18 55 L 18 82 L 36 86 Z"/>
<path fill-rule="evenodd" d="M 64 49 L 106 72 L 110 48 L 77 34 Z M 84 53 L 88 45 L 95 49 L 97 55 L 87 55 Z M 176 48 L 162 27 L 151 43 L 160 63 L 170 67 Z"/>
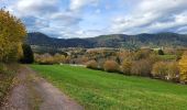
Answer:
<path fill-rule="evenodd" d="M 132 63 L 131 74 L 138 76 L 151 76 L 152 64 L 148 59 L 135 61 Z"/>

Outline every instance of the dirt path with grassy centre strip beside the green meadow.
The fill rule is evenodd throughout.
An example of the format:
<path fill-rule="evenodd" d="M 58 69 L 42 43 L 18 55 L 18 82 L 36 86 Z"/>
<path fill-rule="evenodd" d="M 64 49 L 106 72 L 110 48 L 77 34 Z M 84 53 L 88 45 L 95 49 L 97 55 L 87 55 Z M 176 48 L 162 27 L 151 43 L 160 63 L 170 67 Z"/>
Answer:
<path fill-rule="evenodd" d="M 22 67 L 15 86 L 0 110 L 82 110 L 77 102 L 65 96 L 29 67 Z"/>

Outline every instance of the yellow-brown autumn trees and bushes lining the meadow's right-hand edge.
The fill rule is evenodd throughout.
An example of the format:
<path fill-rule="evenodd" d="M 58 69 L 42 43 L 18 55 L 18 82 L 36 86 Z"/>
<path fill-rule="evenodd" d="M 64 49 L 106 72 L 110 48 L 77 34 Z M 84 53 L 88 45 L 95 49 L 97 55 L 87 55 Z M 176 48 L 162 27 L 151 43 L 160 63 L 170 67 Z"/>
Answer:
<path fill-rule="evenodd" d="M 182 51 L 164 55 L 162 50 L 140 50 L 138 52 L 119 52 L 116 58 L 100 61 L 91 59 L 87 67 L 109 73 L 135 75 L 174 82 L 187 84 L 187 53 Z"/>

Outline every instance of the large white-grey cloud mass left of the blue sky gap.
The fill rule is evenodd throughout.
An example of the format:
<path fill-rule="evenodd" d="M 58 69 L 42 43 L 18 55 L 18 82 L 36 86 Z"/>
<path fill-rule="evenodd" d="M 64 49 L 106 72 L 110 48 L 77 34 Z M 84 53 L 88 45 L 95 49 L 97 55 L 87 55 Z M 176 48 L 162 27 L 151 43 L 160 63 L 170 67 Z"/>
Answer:
<path fill-rule="evenodd" d="M 29 32 L 40 31 L 52 37 L 69 37 L 66 33 L 79 30 L 81 18 L 73 11 L 62 10 L 59 2 L 61 0 L 15 0 L 8 10 L 24 22 Z"/>

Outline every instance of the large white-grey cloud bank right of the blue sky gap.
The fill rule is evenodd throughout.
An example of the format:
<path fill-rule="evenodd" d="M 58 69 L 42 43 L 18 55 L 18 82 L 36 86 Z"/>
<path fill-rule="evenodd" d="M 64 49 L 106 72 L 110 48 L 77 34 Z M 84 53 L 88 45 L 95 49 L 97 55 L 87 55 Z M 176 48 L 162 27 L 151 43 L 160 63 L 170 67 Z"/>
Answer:
<path fill-rule="evenodd" d="M 133 13 L 114 18 L 110 31 L 135 34 L 186 25 L 186 0 L 142 0 Z"/>

